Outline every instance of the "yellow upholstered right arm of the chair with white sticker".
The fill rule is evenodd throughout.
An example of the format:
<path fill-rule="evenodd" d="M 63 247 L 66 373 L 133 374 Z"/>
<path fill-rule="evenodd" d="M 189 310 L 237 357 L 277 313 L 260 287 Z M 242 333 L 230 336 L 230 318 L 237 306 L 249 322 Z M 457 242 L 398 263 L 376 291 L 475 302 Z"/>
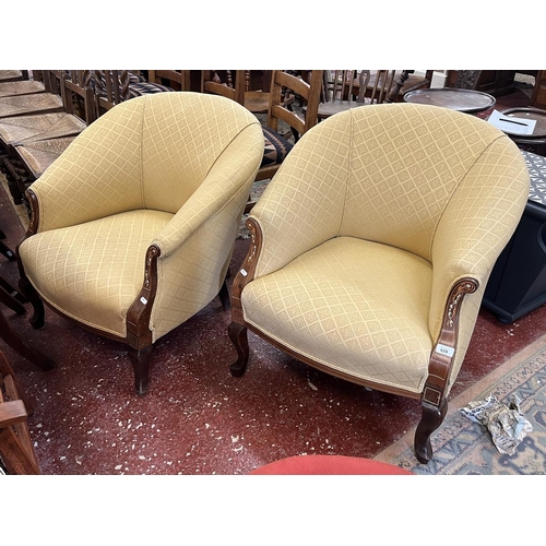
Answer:
<path fill-rule="evenodd" d="M 459 306 L 456 348 L 449 389 L 468 347 L 484 290 L 498 256 L 518 227 L 529 195 L 529 171 L 523 156 L 506 136 L 495 141 L 471 168 L 452 195 L 432 242 L 432 295 L 429 330 L 435 344 L 449 309 L 449 295 L 464 278 L 477 288 Z M 491 165 L 495 167 L 492 168 Z M 495 206 L 495 199 L 502 206 Z"/>

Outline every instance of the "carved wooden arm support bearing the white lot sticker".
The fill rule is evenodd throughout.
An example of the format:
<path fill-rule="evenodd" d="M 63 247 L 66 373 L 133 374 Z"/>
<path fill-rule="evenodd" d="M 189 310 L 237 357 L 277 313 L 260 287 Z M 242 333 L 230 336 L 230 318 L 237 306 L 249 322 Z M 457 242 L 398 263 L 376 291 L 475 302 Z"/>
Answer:
<path fill-rule="evenodd" d="M 440 335 L 430 356 L 428 378 L 423 391 L 423 403 L 435 407 L 440 407 L 443 403 L 456 352 L 462 301 L 466 294 L 472 294 L 477 288 L 478 282 L 468 277 L 459 281 L 451 289 L 443 313 Z"/>

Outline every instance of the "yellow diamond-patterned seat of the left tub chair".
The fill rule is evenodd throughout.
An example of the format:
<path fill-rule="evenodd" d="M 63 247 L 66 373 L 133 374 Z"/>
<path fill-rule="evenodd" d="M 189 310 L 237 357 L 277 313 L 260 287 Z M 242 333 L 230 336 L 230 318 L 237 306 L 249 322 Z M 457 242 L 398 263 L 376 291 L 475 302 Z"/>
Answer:
<path fill-rule="evenodd" d="M 38 233 L 20 247 L 25 273 L 61 312 L 126 336 L 126 316 L 144 281 L 146 249 L 173 214 L 130 211 Z"/>

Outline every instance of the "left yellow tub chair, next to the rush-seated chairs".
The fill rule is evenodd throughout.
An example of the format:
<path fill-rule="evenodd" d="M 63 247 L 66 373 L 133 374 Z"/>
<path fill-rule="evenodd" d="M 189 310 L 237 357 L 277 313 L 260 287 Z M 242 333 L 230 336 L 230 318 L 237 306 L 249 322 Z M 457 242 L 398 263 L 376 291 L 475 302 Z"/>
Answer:
<path fill-rule="evenodd" d="M 124 342 L 144 394 L 153 343 L 221 288 L 228 301 L 225 275 L 262 155 L 256 117 L 223 97 L 159 93 L 102 116 L 27 191 L 19 257 L 32 324 L 44 323 L 43 299 Z"/>

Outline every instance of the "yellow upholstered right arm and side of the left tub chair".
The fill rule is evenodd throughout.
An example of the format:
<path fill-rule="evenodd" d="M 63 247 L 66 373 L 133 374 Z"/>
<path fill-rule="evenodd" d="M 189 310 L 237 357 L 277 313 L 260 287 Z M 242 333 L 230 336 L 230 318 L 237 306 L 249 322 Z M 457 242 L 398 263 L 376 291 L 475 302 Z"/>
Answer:
<path fill-rule="evenodd" d="M 207 305 L 224 282 L 263 153 L 259 126 L 245 132 L 154 241 L 159 248 L 150 321 L 154 341 Z"/>

